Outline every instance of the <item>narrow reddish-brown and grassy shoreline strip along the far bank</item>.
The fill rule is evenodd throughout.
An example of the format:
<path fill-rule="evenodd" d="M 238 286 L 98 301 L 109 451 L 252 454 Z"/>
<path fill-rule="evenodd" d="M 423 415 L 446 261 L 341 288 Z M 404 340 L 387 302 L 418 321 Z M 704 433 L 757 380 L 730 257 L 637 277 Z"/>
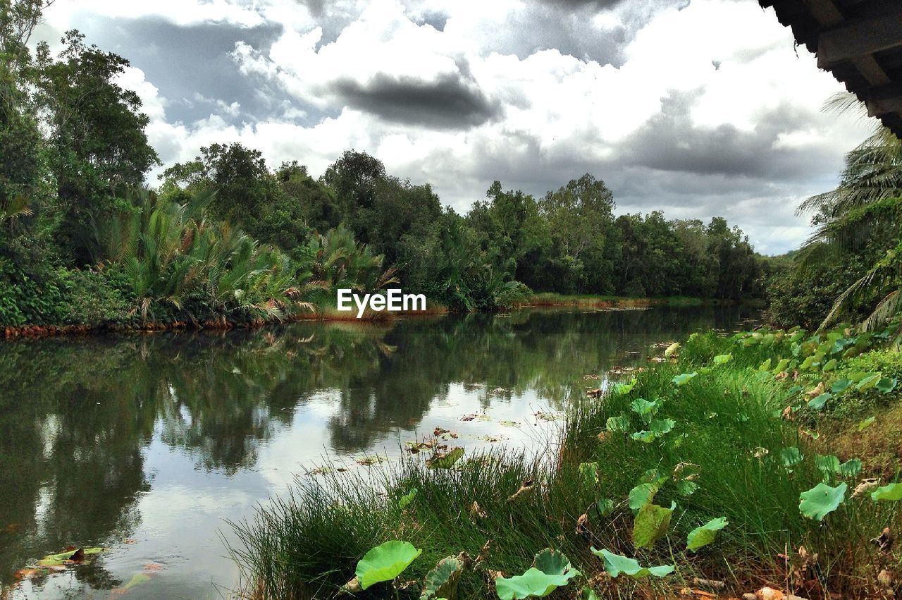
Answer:
<path fill-rule="evenodd" d="M 728 306 L 743 303 L 757 303 L 759 300 L 721 300 L 686 298 L 682 296 L 667 298 L 627 298 L 617 296 L 582 296 L 560 295 L 554 293 L 537 293 L 529 299 L 516 303 L 511 309 L 497 311 L 500 313 L 521 309 L 552 309 L 556 307 L 586 307 L 597 309 L 647 309 L 653 306 L 693 307 L 693 306 Z M 474 310 L 472 312 L 481 312 Z M 155 322 L 141 326 L 122 325 L 23 325 L 0 328 L 0 339 L 22 339 L 38 337 L 91 336 L 106 333 L 159 333 L 163 331 L 232 331 L 235 329 L 259 329 L 278 325 L 287 325 L 301 321 L 322 322 L 359 322 L 389 323 L 395 318 L 429 318 L 448 314 L 456 314 L 440 305 L 427 305 L 426 310 L 374 312 L 367 310 L 364 316 L 357 318 L 353 311 L 338 312 L 335 307 L 318 307 L 315 312 L 303 312 L 281 319 L 253 319 L 247 321 L 207 320 L 202 322 L 172 321 L 170 323 Z M 459 313 L 467 314 L 467 313 Z"/>

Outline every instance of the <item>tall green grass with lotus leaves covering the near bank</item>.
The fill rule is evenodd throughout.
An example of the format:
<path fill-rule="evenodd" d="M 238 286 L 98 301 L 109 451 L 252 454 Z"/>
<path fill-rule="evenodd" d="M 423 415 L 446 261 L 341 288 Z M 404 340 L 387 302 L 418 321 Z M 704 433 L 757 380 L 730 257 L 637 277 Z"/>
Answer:
<path fill-rule="evenodd" d="M 844 449 L 832 456 L 818 440 L 824 417 L 805 395 L 861 361 L 897 364 L 860 344 L 850 332 L 695 334 L 634 385 L 574 407 L 561 437 L 536 457 L 493 453 L 434 470 L 408 457 L 379 467 L 377 481 L 300 479 L 294 494 L 236 525 L 245 584 L 255 597 L 330 597 L 369 549 L 405 540 L 423 549 L 405 579 L 422 581 L 462 551 L 478 557 L 458 598 L 495 597 L 499 572 L 523 573 L 546 548 L 582 574 L 554 597 L 572 598 L 581 586 L 665 597 L 695 577 L 723 580 L 734 595 L 769 583 L 807 596 L 871 597 L 879 570 L 899 562 L 869 542 L 884 527 L 897 531 L 897 503 L 852 497 L 871 475 L 867 460 L 862 469 Z M 712 523 L 716 535 L 699 545 Z M 604 576 L 599 557 L 614 555 L 661 566 L 666 577 Z M 418 585 L 396 587 L 358 597 L 419 597 Z"/>

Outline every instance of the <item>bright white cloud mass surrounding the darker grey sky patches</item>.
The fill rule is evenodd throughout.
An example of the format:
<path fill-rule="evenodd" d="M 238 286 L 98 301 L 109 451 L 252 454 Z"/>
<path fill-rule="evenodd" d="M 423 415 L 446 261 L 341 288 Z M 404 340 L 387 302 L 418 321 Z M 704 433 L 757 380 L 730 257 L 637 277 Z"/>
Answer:
<path fill-rule="evenodd" d="M 75 8 L 60 5 L 68 8 L 57 12 L 54 6 L 51 23 L 62 28 Z M 599 35 L 628 21 L 625 5 L 595 18 L 591 24 Z M 226 20 L 253 26 L 278 19 L 283 24 L 272 47 L 239 42 L 232 59 L 241 76 L 278 88 L 293 101 L 242 125 L 235 125 L 244 116 L 242 107 L 216 99 L 207 118 L 170 123 L 159 90 L 137 69 L 126 74 L 124 85 L 145 101 L 152 119 L 149 135 L 165 161 L 187 160 L 207 143 L 240 141 L 260 149 L 273 165 L 297 159 L 318 173 L 342 151 L 355 148 L 373 152 L 394 174 L 432 182 L 459 209 L 482 197 L 492 179 L 543 193 L 593 171 L 631 209 L 665 208 L 673 217 L 724 214 L 750 231 L 761 249 L 782 251 L 806 235 L 804 219 L 787 217 L 792 211 L 782 207 L 794 207 L 829 185 L 843 153 L 871 126 L 819 112 L 840 84 L 816 69 L 806 51 L 796 55 L 791 32 L 757 3 L 695 0 L 681 10 L 659 9 L 623 42 L 619 68 L 557 50 L 523 57 L 497 51 L 490 37 L 511 35 L 498 32 L 500 23 L 527 6 L 514 0 L 426 0 L 408 6 L 398 0 L 345 1 L 343 14 L 356 17 L 331 41 L 324 39 L 318 19 L 295 0 L 161 0 L 140 6 L 85 0 L 78 10 L 167 14 L 177 23 Z M 443 31 L 414 23 L 430 11 L 445 15 Z M 530 33 L 535 32 L 521 35 Z M 431 93 L 428 88 L 442 82 L 450 91 L 442 88 L 436 96 L 436 111 L 459 110 L 464 125 L 446 126 L 441 119 L 448 115 L 435 116 L 442 126 L 429 126 L 419 117 L 406 123 L 398 118 L 398 111 L 428 112 L 431 105 L 420 106 L 413 96 Z M 448 100 L 456 92 L 459 98 Z M 649 180 L 643 197 L 637 189 L 644 182 L 630 180 L 631 165 L 623 162 L 625 144 L 633 143 L 649 120 L 676 118 L 662 115 L 668 97 L 689 98 L 680 117 L 689 133 L 738 132 L 728 138 L 737 144 L 757 135 L 770 144 L 761 152 L 809 153 L 812 160 L 799 162 L 808 171 L 761 178 L 758 192 L 743 196 L 754 187 L 750 180 L 760 176 L 743 174 L 737 165 L 737 173 L 724 171 L 726 179 L 718 180 L 719 186 L 724 181 L 736 186 L 723 196 L 729 204 L 723 204 L 713 201 L 720 193 L 714 189 L 699 189 L 692 199 L 691 186 L 680 183 L 691 181 L 692 171 L 643 169 Z M 691 148 L 688 140 L 686 148 Z M 669 188 L 668 181 L 673 182 Z M 668 209 L 676 206 L 683 208 Z M 764 222 L 756 211 L 764 211 Z"/>

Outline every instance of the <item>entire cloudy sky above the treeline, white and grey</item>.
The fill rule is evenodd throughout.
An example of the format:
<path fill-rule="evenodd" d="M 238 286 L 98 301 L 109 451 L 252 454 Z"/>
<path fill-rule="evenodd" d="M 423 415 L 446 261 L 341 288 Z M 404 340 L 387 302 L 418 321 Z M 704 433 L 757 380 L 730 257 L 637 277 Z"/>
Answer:
<path fill-rule="evenodd" d="M 873 126 L 822 112 L 841 86 L 755 0 L 57 0 L 41 37 L 70 28 L 131 60 L 167 164 L 354 148 L 461 212 L 591 172 L 618 213 L 721 215 L 767 254 Z"/>

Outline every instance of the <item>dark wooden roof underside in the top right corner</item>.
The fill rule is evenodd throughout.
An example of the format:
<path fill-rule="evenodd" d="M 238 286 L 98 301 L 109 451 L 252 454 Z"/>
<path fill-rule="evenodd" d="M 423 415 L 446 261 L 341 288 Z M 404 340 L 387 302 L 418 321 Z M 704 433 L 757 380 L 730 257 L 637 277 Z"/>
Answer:
<path fill-rule="evenodd" d="M 759 0 L 902 138 L 902 0 Z"/>

